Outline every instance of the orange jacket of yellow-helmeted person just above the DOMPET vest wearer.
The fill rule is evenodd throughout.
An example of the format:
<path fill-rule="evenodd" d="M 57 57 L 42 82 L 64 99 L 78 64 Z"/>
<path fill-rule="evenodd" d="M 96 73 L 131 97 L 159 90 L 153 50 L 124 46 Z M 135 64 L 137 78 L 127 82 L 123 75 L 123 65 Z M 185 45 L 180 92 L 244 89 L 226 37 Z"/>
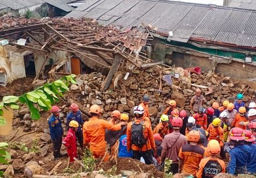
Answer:
<path fill-rule="evenodd" d="M 209 125 L 209 127 L 206 130 L 209 133 L 209 138 L 208 141 L 210 140 L 217 140 L 220 143 L 220 146 L 223 146 L 224 143 L 220 140 L 224 141 L 224 131 L 223 128 L 221 128 L 220 126 L 218 126 L 217 128 L 214 128 L 212 123 Z M 217 138 L 218 136 L 218 138 Z"/>

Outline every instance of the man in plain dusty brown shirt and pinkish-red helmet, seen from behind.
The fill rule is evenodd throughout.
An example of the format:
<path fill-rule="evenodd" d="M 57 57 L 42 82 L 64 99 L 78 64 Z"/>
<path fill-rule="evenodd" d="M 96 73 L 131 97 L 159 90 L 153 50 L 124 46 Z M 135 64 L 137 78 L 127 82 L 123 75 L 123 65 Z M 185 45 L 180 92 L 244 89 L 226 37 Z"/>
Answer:
<path fill-rule="evenodd" d="M 172 119 L 172 128 L 173 132 L 166 135 L 163 142 L 161 143 L 162 152 L 161 152 L 161 161 L 162 165 L 165 161 L 165 158 L 172 160 L 172 164 L 167 173 L 176 174 L 179 172 L 179 150 L 181 146 L 187 144 L 186 136 L 180 133 L 180 128 L 183 125 L 183 120 L 181 118 Z"/>

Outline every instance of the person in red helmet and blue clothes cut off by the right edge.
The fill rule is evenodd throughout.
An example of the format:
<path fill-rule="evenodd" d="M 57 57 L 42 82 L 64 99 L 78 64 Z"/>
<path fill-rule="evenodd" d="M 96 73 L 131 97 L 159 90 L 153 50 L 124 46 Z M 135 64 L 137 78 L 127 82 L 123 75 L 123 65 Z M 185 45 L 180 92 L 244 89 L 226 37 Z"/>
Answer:
<path fill-rule="evenodd" d="M 256 145 L 255 142 L 255 136 L 252 134 L 251 131 L 244 130 L 245 134 L 245 145 L 250 146 L 251 148 L 251 161 L 246 165 L 247 172 L 254 174 L 256 173 Z"/>

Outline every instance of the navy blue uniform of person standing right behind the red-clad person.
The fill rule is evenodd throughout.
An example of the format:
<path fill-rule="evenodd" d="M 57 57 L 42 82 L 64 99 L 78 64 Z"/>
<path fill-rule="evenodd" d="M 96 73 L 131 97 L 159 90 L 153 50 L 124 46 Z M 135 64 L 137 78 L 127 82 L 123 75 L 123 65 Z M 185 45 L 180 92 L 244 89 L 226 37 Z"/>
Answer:
<path fill-rule="evenodd" d="M 82 148 L 83 147 L 83 132 L 82 132 L 82 128 L 80 126 L 84 125 L 84 121 L 83 121 L 81 112 L 77 111 L 76 114 L 74 114 L 73 112 L 70 112 L 66 116 L 66 122 L 67 122 L 66 124 L 67 124 L 68 129 L 69 129 L 69 122 L 71 120 L 75 120 L 79 124 L 78 130 L 76 132 L 76 137 L 77 137 L 77 139 L 79 141 L 80 147 Z"/>

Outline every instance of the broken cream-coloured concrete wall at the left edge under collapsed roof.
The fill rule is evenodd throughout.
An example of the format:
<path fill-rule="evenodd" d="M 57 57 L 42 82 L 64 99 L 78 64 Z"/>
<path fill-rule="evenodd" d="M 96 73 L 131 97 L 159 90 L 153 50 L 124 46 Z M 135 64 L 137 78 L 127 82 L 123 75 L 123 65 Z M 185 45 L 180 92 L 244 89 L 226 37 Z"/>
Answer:
<path fill-rule="evenodd" d="M 0 67 L 6 71 L 6 83 L 11 83 L 17 78 L 26 77 L 24 54 L 14 52 L 12 46 L 0 46 Z"/>

